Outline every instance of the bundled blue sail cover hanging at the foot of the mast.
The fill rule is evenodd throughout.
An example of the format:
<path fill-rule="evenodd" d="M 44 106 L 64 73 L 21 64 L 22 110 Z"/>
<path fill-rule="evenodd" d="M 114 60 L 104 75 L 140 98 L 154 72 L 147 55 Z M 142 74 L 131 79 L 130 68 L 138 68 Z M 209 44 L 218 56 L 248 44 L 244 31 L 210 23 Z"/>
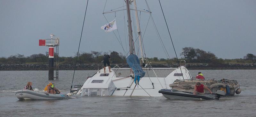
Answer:
<path fill-rule="evenodd" d="M 135 75 L 134 82 L 136 84 L 138 84 L 140 81 L 140 78 L 145 76 L 145 72 L 142 70 L 142 68 L 140 66 L 140 61 L 139 61 L 138 56 L 131 54 L 130 56 L 128 56 L 126 58 L 126 62 L 128 63 L 128 65 L 132 68 L 132 70 L 134 72 L 134 75 Z"/>

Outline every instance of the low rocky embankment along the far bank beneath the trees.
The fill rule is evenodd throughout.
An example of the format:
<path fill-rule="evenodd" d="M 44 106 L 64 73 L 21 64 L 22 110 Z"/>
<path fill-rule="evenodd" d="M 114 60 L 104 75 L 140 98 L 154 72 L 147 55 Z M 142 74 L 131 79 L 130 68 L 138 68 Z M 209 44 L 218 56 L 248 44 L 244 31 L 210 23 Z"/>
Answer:
<path fill-rule="evenodd" d="M 116 64 L 110 65 L 111 67 Z M 118 64 L 118 66 L 128 67 L 127 64 Z M 152 67 L 178 67 L 178 64 L 164 64 L 156 65 L 152 64 Z M 189 70 L 221 70 L 221 69 L 256 69 L 256 64 L 186 64 Z M 54 66 L 55 68 L 55 66 Z M 101 64 L 77 64 L 76 70 L 98 70 L 102 69 Z M 0 64 L 0 71 L 28 71 L 28 70 L 48 70 L 49 64 Z M 59 70 L 74 70 L 73 64 L 60 64 Z"/>

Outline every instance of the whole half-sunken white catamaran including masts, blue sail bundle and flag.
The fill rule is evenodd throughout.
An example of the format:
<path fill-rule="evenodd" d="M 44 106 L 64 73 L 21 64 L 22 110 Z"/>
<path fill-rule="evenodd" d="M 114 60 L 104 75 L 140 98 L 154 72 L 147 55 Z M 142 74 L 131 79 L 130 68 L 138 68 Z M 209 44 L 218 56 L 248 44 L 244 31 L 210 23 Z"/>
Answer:
<path fill-rule="evenodd" d="M 135 9 L 130 9 L 130 5 L 134 3 Z M 81 96 L 145 96 L 145 97 L 161 97 L 161 93 L 158 93 L 161 89 L 171 89 L 169 84 L 173 83 L 176 79 L 191 79 L 191 75 L 186 68 L 186 62 L 184 66 L 178 68 L 152 68 L 147 58 L 143 57 L 142 51 L 142 39 L 140 32 L 140 23 L 138 19 L 138 12 L 136 1 L 125 0 L 127 19 L 128 19 L 128 31 L 129 31 L 129 47 L 130 53 L 126 61 L 130 68 L 120 68 L 115 66 L 111 68 L 111 72 L 100 69 L 92 77 L 88 78 L 81 88 L 75 91 L 73 94 Z M 105 8 L 104 8 L 105 9 Z M 138 56 L 135 55 L 134 41 L 132 36 L 132 24 L 130 10 L 135 11 L 137 21 L 137 32 L 139 38 L 141 61 Z M 119 10 L 120 11 L 120 10 Z M 114 11 L 110 11 L 114 12 Z M 150 10 L 144 10 L 142 12 L 151 13 Z M 109 13 L 109 12 L 105 12 Z M 104 11 L 103 11 L 104 14 Z M 151 14 L 150 14 L 151 16 Z M 152 16 L 151 16 L 152 17 Z M 107 24 L 106 27 L 112 27 L 115 20 Z M 111 26 L 109 26 L 111 25 Z M 102 29 L 106 28 L 102 27 Z M 109 30 L 108 30 L 109 31 Z M 164 43 L 161 43 L 164 44 Z M 144 63 L 145 61 L 145 63 Z M 143 68 L 141 67 L 143 66 Z M 72 82 L 73 83 L 73 82 Z M 71 86 L 72 87 L 72 86 Z"/>

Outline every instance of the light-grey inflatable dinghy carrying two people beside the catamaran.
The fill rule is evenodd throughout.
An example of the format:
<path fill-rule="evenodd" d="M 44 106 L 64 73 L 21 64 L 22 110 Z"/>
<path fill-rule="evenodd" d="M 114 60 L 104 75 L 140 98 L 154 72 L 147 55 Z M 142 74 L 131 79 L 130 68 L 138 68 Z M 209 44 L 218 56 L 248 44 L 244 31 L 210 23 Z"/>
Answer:
<path fill-rule="evenodd" d="M 44 92 L 37 92 L 32 90 L 19 90 L 16 92 L 16 97 L 19 100 L 51 100 L 51 99 L 68 99 L 68 95 L 63 94 L 49 94 Z"/>

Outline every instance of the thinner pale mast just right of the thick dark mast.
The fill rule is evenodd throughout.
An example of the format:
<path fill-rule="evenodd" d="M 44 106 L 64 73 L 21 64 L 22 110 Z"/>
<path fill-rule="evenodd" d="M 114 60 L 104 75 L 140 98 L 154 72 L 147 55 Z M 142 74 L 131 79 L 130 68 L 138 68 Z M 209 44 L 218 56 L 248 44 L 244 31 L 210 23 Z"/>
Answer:
<path fill-rule="evenodd" d="M 133 1 L 134 6 L 135 6 L 135 16 L 136 16 L 136 21 L 137 21 L 137 31 L 139 35 L 139 46 L 140 46 L 140 55 L 141 55 L 141 60 L 142 63 L 144 63 L 144 57 L 143 57 L 143 51 L 142 51 L 142 44 L 141 44 L 141 33 L 140 33 L 140 24 L 139 24 L 139 18 L 138 18 L 138 11 L 137 11 L 137 5 L 136 5 L 136 0 Z"/>

